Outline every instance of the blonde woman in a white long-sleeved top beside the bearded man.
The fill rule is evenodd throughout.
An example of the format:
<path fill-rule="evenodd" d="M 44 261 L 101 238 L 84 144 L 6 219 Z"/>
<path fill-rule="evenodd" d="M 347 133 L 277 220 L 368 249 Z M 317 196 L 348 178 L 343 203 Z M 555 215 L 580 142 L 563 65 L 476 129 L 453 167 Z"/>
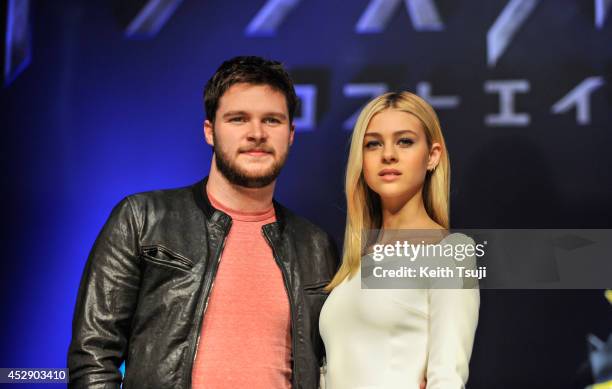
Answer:
<path fill-rule="evenodd" d="M 463 388 L 478 321 L 478 289 L 361 289 L 362 233 L 449 228 L 449 159 L 436 113 L 387 93 L 363 109 L 346 173 L 342 265 L 319 327 L 326 389 Z M 470 238 L 451 234 L 445 240 Z"/>

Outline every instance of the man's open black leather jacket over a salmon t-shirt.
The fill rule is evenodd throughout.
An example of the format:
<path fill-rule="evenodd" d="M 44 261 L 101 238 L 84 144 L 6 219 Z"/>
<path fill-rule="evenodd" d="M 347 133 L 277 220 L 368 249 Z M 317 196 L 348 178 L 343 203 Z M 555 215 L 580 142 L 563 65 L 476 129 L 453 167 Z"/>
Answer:
<path fill-rule="evenodd" d="M 79 287 L 70 388 L 119 388 L 123 360 L 124 388 L 191 387 L 202 318 L 232 224 L 211 206 L 205 184 L 135 194 L 113 209 Z M 292 384 L 317 388 L 324 355 L 319 312 L 337 251 L 321 229 L 274 207 L 277 221 L 262 232 L 289 297 Z"/>

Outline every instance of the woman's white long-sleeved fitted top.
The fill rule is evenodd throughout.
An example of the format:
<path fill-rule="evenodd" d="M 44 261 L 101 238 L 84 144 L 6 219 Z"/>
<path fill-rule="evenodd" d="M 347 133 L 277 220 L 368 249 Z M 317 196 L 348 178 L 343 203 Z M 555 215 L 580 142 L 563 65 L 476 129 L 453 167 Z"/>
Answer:
<path fill-rule="evenodd" d="M 464 388 L 479 305 L 478 289 L 361 289 L 359 269 L 321 310 L 321 387 L 418 389 L 427 377 L 427 389 Z"/>

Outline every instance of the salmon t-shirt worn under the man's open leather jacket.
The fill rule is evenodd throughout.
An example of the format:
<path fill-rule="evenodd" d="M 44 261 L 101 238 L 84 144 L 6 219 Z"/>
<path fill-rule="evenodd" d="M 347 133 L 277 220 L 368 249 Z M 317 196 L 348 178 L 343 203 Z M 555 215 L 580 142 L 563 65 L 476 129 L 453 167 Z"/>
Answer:
<path fill-rule="evenodd" d="M 262 231 L 276 220 L 274 207 L 241 212 L 208 198 L 232 226 L 204 313 L 192 388 L 290 388 L 289 299 Z"/>

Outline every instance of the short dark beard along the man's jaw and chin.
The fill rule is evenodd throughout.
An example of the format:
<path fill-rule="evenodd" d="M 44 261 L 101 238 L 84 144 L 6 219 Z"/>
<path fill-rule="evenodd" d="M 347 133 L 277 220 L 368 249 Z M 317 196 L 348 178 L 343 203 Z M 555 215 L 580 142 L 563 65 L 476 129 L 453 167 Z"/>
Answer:
<path fill-rule="evenodd" d="M 280 174 L 287 154 L 285 153 L 279 161 L 274 161 L 272 166 L 265 172 L 259 175 L 251 175 L 246 171 L 236 166 L 227 154 L 219 145 L 219 140 L 213 133 L 213 152 L 215 153 L 215 163 L 223 176 L 232 184 L 243 186 L 245 188 L 263 188 L 270 185 Z M 257 145 L 256 145 L 257 146 Z M 258 147 L 258 146 L 257 146 Z"/>

